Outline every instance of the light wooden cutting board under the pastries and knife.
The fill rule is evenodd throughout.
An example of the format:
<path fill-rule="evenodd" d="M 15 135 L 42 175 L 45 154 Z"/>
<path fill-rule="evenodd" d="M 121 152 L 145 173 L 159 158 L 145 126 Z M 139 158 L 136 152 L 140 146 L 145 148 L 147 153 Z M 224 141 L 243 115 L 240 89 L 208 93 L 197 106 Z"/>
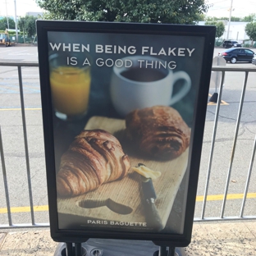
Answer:
<path fill-rule="evenodd" d="M 163 226 L 171 213 L 172 204 L 177 190 L 181 185 L 188 161 L 188 149 L 179 158 L 167 162 L 152 161 L 138 158 L 135 149 L 126 147 L 125 121 L 107 117 L 92 117 L 86 130 L 103 129 L 115 135 L 121 142 L 125 153 L 128 153 L 131 166 L 136 167 L 139 162 L 154 171 L 161 171 L 162 175 L 153 186 L 158 196 L 156 207 L 162 219 Z M 139 174 L 130 170 L 128 176 L 120 181 L 112 181 L 91 191 L 69 199 L 57 199 L 58 213 L 75 215 L 81 219 L 103 220 L 107 222 L 145 222 L 143 194 Z M 100 222 L 98 222 L 100 223 Z"/>

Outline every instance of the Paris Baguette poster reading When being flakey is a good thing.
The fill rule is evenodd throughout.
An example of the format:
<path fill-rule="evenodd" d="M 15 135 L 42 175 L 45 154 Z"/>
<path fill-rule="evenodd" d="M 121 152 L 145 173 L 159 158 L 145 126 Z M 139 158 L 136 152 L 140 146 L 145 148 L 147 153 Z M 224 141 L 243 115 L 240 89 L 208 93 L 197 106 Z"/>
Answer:
<path fill-rule="evenodd" d="M 58 228 L 182 234 L 204 38 L 47 34 Z"/>

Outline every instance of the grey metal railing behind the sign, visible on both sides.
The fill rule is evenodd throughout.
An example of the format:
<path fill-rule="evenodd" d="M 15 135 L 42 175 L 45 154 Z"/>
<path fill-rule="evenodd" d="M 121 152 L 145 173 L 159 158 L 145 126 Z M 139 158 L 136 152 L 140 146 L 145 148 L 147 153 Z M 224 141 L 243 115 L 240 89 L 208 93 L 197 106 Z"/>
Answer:
<path fill-rule="evenodd" d="M 4 186 L 3 189 L 0 189 L 0 193 L 5 193 L 7 219 L 8 219 L 8 223 L 0 224 L 0 229 L 16 228 L 16 227 L 26 227 L 27 228 L 27 227 L 49 226 L 48 223 L 36 223 L 35 217 L 34 217 L 33 191 L 32 191 L 31 174 L 30 174 L 30 155 L 29 155 L 29 149 L 28 149 L 28 137 L 27 137 L 26 120 L 25 120 L 25 103 L 24 103 L 24 93 L 23 93 L 22 74 L 21 74 L 21 67 L 39 66 L 39 65 L 37 62 L 21 62 L 21 63 L 0 62 L 0 66 L 16 66 L 17 71 L 18 71 L 18 80 L 19 80 L 19 89 L 20 89 L 20 98 L 21 98 L 21 117 L 22 117 L 22 127 L 23 127 L 24 141 L 25 141 L 26 175 L 27 175 L 27 186 L 28 186 L 28 190 L 29 190 L 30 218 L 31 218 L 31 223 L 29 223 L 29 224 L 15 224 L 12 222 L 10 194 L 9 194 L 9 187 L 8 187 L 8 181 L 7 181 L 7 170 L 6 170 L 6 164 L 5 164 L 4 147 L 2 144 L 2 133 L 1 133 L 1 126 L 0 126 L 0 153 L 1 153 L 0 156 L 1 156 L 1 162 L 2 162 L 2 177 L 3 177 L 3 186 Z M 256 219 L 256 212 L 254 212 L 254 214 L 251 216 L 244 215 L 245 201 L 246 201 L 247 194 L 248 194 L 249 182 L 250 182 L 251 175 L 253 172 L 254 155 L 255 155 L 255 150 L 256 150 L 256 136 L 254 138 L 254 146 L 251 150 L 249 170 L 248 170 L 247 179 L 246 179 L 246 183 L 245 183 L 242 203 L 240 205 L 240 214 L 239 214 L 239 216 L 235 216 L 235 217 L 231 217 L 231 216 L 224 217 L 224 213 L 225 213 L 225 209 L 226 209 L 227 192 L 228 192 L 228 188 L 229 188 L 229 184 L 230 184 L 230 180 L 231 180 L 232 164 L 233 164 L 234 158 L 235 158 L 235 147 L 236 147 L 237 138 L 238 138 L 240 118 L 241 118 L 241 113 L 242 113 L 244 99 L 245 99 L 245 91 L 246 91 L 246 85 L 247 85 L 247 81 L 248 81 L 248 75 L 249 75 L 249 73 L 256 72 L 256 69 L 253 67 L 252 68 L 237 68 L 237 67 L 229 67 L 229 66 L 213 66 L 212 71 L 221 72 L 222 79 L 221 79 L 221 84 L 220 84 L 219 90 L 218 90 L 218 99 L 217 99 L 215 119 L 214 119 L 214 124 L 213 124 L 213 135 L 212 135 L 212 142 L 211 142 L 211 148 L 210 148 L 210 153 L 209 153 L 208 171 L 207 171 L 207 175 L 206 175 L 205 189 L 204 189 L 204 193 L 203 193 L 203 204 L 202 204 L 202 208 L 201 208 L 201 216 L 194 217 L 194 222 Z M 245 73 L 245 79 L 244 79 L 244 83 L 242 86 L 242 92 L 241 92 L 241 96 L 240 96 L 240 106 L 239 106 L 238 116 L 237 116 L 236 125 L 235 125 L 235 135 L 234 135 L 233 144 L 232 144 L 231 159 L 230 159 L 228 171 L 226 173 L 226 185 L 225 185 L 225 192 L 223 194 L 223 199 L 222 199 L 222 208 L 220 211 L 220 217 L 205 217 L 205 208 L 206 208 L 206 204 L 208 201 L 207 200 L 208 199 L 208 187 L 209 187 L 209 183 L 210 183 L 210 176 L 212 174 L 213 153 L 214 153 L 214 149 L 215 149 L 215 141 L 216 141 L 216 135 L 217 135 L 218 117 L 219 117 L 219 112 L 220 112 L 220 107 L 221 107 L 221 102 L 222 102 L 222 89 L 223 89 L 223 85 L 224 85 L 226 72 L 231 72 L 231 71 Z M 256 209 L 254 209 L 254 210 L 256 211 Z"/>

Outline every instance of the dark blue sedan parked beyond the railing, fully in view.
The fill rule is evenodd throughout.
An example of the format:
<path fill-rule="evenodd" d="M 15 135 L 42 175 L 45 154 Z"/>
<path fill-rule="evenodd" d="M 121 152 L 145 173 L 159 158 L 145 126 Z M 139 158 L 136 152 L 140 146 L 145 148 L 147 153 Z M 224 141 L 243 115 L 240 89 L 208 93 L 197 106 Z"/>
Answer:
<path fill-rule="evenodd" d="M 252 62 L 254 54 L 255 53 L 248 48 L 229 48 L 222 53 L 218 53 L 219 56 L 224 57 L 226 62 L 233 64 L 235 64 L 235 62 Z"/>

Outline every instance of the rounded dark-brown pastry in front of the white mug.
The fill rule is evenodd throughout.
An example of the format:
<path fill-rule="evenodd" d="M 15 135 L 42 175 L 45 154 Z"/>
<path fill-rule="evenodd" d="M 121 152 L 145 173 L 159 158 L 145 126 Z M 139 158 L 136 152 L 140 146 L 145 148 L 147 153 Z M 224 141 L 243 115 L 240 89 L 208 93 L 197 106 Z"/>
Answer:
<path fill-rule="evenodd" d="M 172 107 L 154 106 L 126 116 L 127 135 L 139 149 L 160 160 L 177 158 L 190 144 L 190 128 Z"/>

